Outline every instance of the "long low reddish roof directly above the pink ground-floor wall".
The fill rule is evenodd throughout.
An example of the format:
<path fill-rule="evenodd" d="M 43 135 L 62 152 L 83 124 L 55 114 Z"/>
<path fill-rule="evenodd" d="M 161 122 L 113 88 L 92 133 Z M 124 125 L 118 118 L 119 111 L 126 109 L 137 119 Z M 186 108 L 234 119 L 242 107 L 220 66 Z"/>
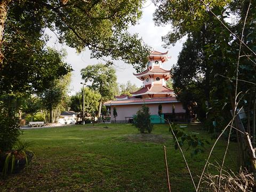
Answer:
<path fill-rule="evenodd" d="M 137 105 L 143 103 L 165 103 L 165 102 L 178 102 L 176 97 L 171 98 L 148 98 L 148 99 L 126 99 L 126 100 L 116 100 L 107 101 L 103 105 Z"/>

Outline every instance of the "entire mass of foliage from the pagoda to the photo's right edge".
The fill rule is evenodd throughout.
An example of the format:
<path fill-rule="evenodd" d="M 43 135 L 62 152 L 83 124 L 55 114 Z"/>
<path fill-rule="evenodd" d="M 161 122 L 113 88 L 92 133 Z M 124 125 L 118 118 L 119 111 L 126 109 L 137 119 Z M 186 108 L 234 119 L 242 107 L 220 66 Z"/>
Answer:
<path fill-rule="evenodd" d="M 187 41 L 183 44 L 177 65 L 172 70 L 173 87 L 188 115 L 196 113 L 197 118 L 205 125 L 213 121 L 217 126 L 207 127 L 210 132 L 219 132 L 230 119 L 231 102 L 234 102 L 236 65 L 239 42 L 213 17 L 201 1 L 154 1 L 157 9 L 155 22 L 171 23 L 173 30 L 163 37 L 166 45 L 177 42 L 185 34 Z M 211 11 L 236 35 L 241 37 L 244 26 L 244 42 L 255 51 L 255 11 L 247 8 L 250 1 L 204 1 Z M 251 2 L 255 7 L 255 2 Z M 231 14 L 237 22 L 228 23 Z M 246 16 L 247 14 L 247 16 Z M 232 20 L 232 19 L 231 19 Z M 245 46 L 241 47 L 243 55 L 253 55 Z M 255 82 L 255 59 L 239 58 L 238 79 Z M 250 101 L 252 106 L 252 84 L 238 81 L 237 92 L 240 97 Z M 238 99 L 239 99 L 238 98 Z M 239 105 L 243 105 L 239 103 Z M 244 105 L 249 107 L 250 105 Z M 247 110 L 249 111 L 249 109 Z"/>

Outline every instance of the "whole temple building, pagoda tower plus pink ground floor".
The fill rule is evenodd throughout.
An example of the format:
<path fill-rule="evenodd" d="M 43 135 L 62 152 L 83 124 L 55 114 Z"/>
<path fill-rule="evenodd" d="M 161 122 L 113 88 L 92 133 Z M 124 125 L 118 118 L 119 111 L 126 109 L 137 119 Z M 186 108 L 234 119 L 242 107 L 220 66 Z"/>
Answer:
<path fill-rule="evenodd" d="M 185 114 L 182 103 L 175 97 L 173 90 L 166 86 L 166 81 L 171 78 L 170 70 L 163 69 L 164 63 L 170 59 L 168 52 L 151 51 L 148 57 L 147 69 L 142 73 L 133 74 L 143 82 L 143 87 L 127 95 L 120 95 L 116 100 L 103 103 L 111 107 L 111 122 L 114 122 L 113 109 L 116 108 L 116 123 L 130 122 L 140 107 L 145 104 L 149 107 L 151 122 L 163 122 L 158 117 L 158 106 L 162 104 L 162 117 L 170 118 L 175 114 Z"/>

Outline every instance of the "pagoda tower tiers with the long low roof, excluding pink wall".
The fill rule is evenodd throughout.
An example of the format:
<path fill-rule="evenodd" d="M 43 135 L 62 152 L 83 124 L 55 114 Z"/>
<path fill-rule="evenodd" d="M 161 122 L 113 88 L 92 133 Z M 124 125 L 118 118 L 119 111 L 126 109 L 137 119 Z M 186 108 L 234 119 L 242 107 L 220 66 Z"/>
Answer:
<path fill-rule="evenodd" d="M 170 59 L 167 53 L 150 52 L 147 69 L 133 74 L 143 82 L 143 87 L 131 93 L 131 97 L 120 95 L 116 97 L 116 100 L 105 102 L 104 105 L 177 102 L 173 90 L 166 86 L 166 81 L 171 78 L 170 70 L 163 69 L 163 63 Z"/>

